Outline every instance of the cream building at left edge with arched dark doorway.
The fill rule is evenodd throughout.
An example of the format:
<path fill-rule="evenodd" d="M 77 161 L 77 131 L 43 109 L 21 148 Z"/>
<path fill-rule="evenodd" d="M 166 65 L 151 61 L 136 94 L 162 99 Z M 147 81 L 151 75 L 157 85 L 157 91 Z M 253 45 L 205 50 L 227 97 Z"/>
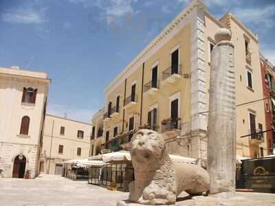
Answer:
<path fill-rule="evenodd" d="M 47 73 L 0 67 L 0 176 L 39 174 L 50 82 Z"/>

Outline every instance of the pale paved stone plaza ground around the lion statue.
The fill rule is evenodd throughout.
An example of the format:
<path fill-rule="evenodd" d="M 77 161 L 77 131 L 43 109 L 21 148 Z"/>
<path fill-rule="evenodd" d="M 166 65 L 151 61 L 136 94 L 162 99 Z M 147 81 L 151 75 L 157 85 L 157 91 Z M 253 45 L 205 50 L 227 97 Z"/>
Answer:
<path fill-rule="evenodd" d="M 109 191 L 87 184 L 87 181 L 71 181 L 61 176 L 42 176 L 36 179 L 0 179 L 1 206 L 108 206 L 126 199 L 128 193 Z M 183 201 L 185 200 L 185 201 Z M 275 194 L 238 193 L 236 198 L 217 199 L 197 196 L 192 199 L 179 197 L 177 205 L 275 205 Z"/>

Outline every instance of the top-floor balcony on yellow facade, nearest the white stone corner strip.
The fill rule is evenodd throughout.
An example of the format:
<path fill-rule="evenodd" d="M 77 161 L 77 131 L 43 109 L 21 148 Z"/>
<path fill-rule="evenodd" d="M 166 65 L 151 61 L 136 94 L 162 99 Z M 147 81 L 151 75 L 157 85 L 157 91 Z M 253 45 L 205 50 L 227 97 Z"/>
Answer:
<path fill-rule="evenodd" d="M 169 67 L 162 71 L 162 84 L 174 84 L 177 80 L 180 80 L 182 77 L 181 65 L 178 65 L 174 69 Z"/>

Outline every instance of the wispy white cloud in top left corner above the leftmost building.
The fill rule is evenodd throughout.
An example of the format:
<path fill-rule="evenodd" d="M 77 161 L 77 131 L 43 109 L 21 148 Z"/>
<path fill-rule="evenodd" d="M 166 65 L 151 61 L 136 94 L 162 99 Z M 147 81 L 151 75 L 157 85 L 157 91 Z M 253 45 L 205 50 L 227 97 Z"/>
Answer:
<path fill-rule="evenodd" d="M 45 11 L 47 8 L 41 8 L 41 10 L 33 10 L 32 8 L 28 9 L 19 9 L 19 10 L 10 10 L 4 12 L 1 15 L 2 21 L 8 23 L 44 23 L 47 21 L 45 19 Z"/>

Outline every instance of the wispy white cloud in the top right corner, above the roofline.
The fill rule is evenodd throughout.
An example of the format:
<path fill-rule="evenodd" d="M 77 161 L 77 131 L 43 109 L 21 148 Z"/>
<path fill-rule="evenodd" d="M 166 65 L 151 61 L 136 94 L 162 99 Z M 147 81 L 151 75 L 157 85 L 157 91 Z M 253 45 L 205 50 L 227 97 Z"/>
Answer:
<path fill-rule="evenodd" d="M 265 23 L 265 26 L 274 25 L 275 5 L 268 5 L 261 8 L 236 8 L 232 10 L 241 21 L 252 23 Z"/>

